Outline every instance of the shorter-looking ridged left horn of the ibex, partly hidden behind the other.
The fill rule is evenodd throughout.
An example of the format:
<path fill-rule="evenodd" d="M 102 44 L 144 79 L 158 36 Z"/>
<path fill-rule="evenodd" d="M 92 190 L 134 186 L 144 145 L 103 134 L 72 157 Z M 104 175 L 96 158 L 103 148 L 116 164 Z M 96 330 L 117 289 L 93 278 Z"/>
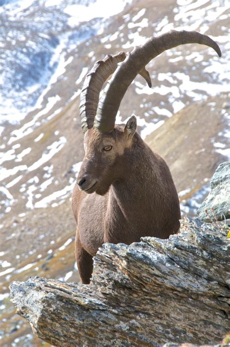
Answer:
<path fill-rule="evenodd" d="M 117 55 L 106 55 L 103 60 L 98 60 L 91 71 L 87 73 L 80 96 L 80 117 L 83 133 L 93 127 L 99 94 L 104 82 L 115 72 L 117 64 L 125 57 L 124 52 Z"/>

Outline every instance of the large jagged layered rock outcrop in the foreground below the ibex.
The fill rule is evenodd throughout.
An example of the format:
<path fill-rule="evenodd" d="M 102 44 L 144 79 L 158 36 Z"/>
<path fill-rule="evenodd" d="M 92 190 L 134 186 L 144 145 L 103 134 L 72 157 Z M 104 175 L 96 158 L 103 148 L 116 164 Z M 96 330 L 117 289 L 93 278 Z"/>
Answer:
<path fill-rule="evenodd" d="M 55 346 L 220 343 L 230 317 L 227 232 L 186 218 L 166 240 L 104 244 L 90 285 L 31 277 L 11 285 L 11 299 Z"/>

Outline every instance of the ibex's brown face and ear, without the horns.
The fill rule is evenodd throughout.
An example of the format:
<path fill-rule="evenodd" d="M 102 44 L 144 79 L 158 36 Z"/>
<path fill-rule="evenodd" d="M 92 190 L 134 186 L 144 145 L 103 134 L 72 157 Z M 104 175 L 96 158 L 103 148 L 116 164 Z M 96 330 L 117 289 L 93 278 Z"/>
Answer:
<path fill-rule="evenodd" d="M 132 146 L 135 130 L 136 117 L 132 116 L 125 127 L 115 125 L 111 132 L 95 128 L 85 132 L 85 157 L 77 180 L 80 190 L 104 195 L 113 182 L 127 174 L 124 157 Z"/>

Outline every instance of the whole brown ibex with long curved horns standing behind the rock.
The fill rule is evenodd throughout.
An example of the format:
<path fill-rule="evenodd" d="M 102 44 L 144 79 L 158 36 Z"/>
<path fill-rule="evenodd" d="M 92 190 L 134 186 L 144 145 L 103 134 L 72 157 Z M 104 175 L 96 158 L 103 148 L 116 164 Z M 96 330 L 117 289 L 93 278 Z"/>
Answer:
<path fill-rule="evenodd" d="M 89 283 L 93 256 L 104 242 L 130 244 L 143 236 L 167 238 L 179 230 L 180 205 L 167 164 L 136 133 L 135 116 L 125 126 L 115 125 L 115 117 L 138 73 L 151 87 L 148 62 L 185 43 L 210 46 L 221 56 L 211 38 L 194 31 L 171 31 L 151 37 L 128 55 L 107 55 L 86 75 L 80 101 L 85 157 L 72 195 L 75 255 L 83 283 Z"/>

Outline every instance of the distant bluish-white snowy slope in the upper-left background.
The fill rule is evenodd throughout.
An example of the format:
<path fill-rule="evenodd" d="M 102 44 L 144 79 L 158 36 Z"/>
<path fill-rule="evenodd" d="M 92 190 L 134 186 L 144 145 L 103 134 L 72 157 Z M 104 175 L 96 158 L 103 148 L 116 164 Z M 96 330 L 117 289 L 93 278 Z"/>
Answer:
<path fill-rule="evenodd" d="M 16 123 L 44 106 L 56 109 L 60 97 L 47 100 L 46 96 L 60 76 L 64 77 L 78 45 L 103 33 L 106 19 L 121 12 L 128 2 L 117 0 L 105 6 L 104 0 L 3 1 L 0 121 Z M 62 107 L 73 95 L 71 89 L 66 94 Z"/>

